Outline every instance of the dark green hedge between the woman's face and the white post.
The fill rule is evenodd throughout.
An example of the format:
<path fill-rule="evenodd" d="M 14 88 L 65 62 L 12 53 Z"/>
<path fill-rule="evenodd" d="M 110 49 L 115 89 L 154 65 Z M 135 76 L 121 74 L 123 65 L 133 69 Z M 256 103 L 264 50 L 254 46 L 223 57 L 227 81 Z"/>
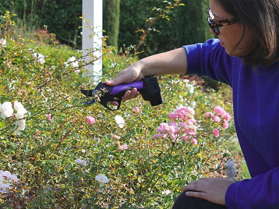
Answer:
<path fill-rule="evenodd" d="M 161 32 L 150 31 L 146 46 L 142 46 L 140 56 L 161 53 L 167 50 L 179 48 L 182 45 L 204 42 L 213 36 L 209 33 L 209 27 L 206 22 L 206 8 L 209 5 L 208 0 L 185 1 L 185 6 L 176 7 L 169 14 L 170 21 L 161 19 L 154 23 L 152 28 Z M 146 19 L 157 15 L 152 8 L 165 8 L 168 3 L 162 0 L 135 1 L 125 0 L 120 2 L 120 29 L 118 36 L 118 46 L 123 44 L 137 44 L 139 34 L 135 33 L 137 29 L 146 28 Z"/>

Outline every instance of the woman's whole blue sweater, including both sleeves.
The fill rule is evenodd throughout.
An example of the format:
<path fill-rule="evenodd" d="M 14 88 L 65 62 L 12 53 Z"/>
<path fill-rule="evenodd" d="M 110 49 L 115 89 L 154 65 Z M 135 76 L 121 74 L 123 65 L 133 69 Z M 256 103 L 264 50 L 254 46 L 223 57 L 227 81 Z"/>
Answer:
<path fill-rule="evenodd" d="M 279 62 L 258 71 L 229 56 L 218 39 L 183 46 L 187 75 L 228 84 L 233 89 L 234 122 L 252 179 L 229 186 L 228 208 L 279 208 Z"/>

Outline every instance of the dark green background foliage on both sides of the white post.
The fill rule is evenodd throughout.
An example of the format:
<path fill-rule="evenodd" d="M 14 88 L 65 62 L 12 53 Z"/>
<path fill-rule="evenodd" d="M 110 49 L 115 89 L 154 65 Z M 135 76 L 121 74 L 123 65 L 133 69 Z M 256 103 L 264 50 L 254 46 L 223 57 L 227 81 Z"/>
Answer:
<path fill-rule="evenodd" d="M 173 1 L 175 2 L 175 1 Z M 206 23 L 206 8 L 209 0 L 180 1 L 181 6 L 170 12 L 169 19 L 162 19 L 154 23 L 150 28 L 150 34 L 141 51 L 145 51 L 139 57 L 148 56 L 167 50 L 181 47 L 182 45 L 204 42 L 213 36 L 209 33 Z M 110 38 L 108 44 L 122 47 L 124 45 L 137 45 L 139 33 L 136 30 L 148 29 L 145 21 L 149 17 L 156 16 L 156 8 L 165 8 L 168 3 L 162 0 L 121 0 L 118 19 L 119 1 L 103 1 L 103 29 Z M 25 27 L 36 30 L 38 27 L 48 26 L 51 33 L 55 33 L 60 43 L 81 48 L 80 32 L 82 25 L 79 17 L 82 15 L 82 1 L 50 1 L 50 0 L 3 0 L 0 2 L 2 14 L 9 9 L 17 14 L 15 20 L 20 28 Z M 119 35 L 117 41 L 119 24 Z M 153 29 L 159 30 L 155 32 Z M 111 39 L 111 40 L 110 40 Z M 117 45 L 116 45 L 117 42 Z"/>

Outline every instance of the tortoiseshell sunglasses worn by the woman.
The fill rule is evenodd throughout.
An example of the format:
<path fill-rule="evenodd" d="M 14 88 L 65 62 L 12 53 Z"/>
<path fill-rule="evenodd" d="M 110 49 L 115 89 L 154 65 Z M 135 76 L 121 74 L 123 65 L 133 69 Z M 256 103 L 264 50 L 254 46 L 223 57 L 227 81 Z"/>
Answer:
<path fill-rule="evenodd" d="M 227 25 L 232 25 L 236 22 L 239 21 L 239 19 L 237 19 L 236 17 L 231 17 L 225 20 L 220 20 L 220 21 L 216 21 L 214 22 L 214 15 L 212 14 L 211 10 L 210 10 L 210 6 L 208 6 L 207 8 L 207 23 L 209 25 L 209 27 L 213 30 L 214 34 L 219 35 L 219 27 L 223 27 L 223 26 L 227 26 Z"/>

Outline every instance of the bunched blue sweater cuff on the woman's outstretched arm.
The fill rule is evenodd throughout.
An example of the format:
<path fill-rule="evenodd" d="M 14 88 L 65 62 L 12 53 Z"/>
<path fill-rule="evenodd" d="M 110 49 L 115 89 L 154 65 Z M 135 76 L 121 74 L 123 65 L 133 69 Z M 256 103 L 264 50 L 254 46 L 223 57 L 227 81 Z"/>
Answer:
<path fill-rule="evenodd" d="M 183 46 L 187 54 L 187 73 L 185 75 L 197 74 L 197 66 L 201 65 L 200 47 L 198 44 Z"/>

